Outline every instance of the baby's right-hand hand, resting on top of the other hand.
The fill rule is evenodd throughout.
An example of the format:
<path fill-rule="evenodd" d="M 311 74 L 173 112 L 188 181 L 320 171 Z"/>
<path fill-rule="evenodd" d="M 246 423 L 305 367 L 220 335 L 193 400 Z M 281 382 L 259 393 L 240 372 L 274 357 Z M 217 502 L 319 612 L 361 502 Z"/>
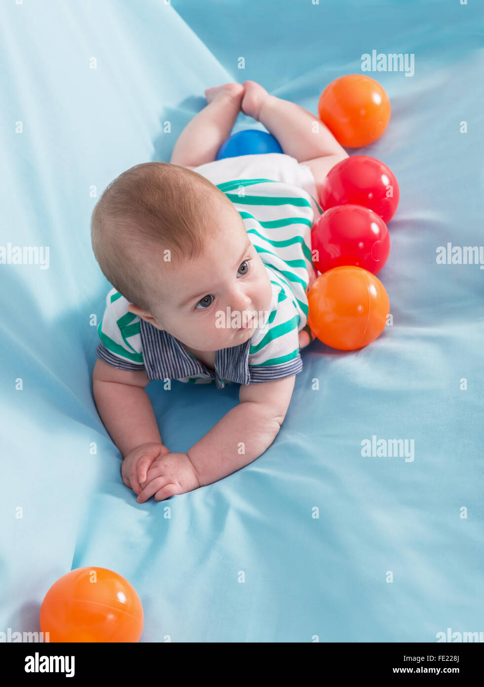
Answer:
<path fill-rule="evenodd" d="M 196 469 L 188 455 L 166 453 L 153 461 L 137 502 L 142 504 L 153 494 L 155 501 L 163 501 L 175 494 L 184 494 L 198 489 L 199 486 Z"/>

